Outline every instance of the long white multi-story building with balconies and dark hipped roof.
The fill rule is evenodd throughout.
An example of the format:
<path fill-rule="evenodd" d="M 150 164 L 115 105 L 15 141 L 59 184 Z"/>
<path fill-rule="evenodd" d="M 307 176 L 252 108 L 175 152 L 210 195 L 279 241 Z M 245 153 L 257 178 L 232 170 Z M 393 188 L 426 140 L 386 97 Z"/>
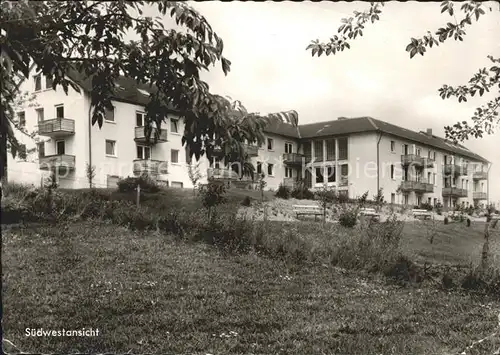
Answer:
<path fill-rule="evenodd" d="M 113 110 L 103 126 L 91 125 L 90 81 L 77 74 L 69 78 L 80 88 L 52 90 L 41 75 L 25 81 L 22 91 L 35 93 L 33 105 L 21 108 L 20 121 L 38 132 L 36 149 L 27 137 L 26 159 L 9 161 L 11 180 L 39 184 L 58 169 L 59 184 L 89 186 L 87 165 L 95 167 L 94 186 L 116 186 L 117 179 L 149 172 L 172 187 L 192 187 L 188 157 L 182 146 L 183 120 L 174 110 L 162 125 L 156 144 L 144 136 L 147 86 L 121 78 Z M 156 128 L 155 128 L 156 129 Z M 383 189 L 385 200 L 398 204 L 442 203 L 478 205 L 488 201 L 490 163 L 462 145 L 432 134 L 415 132 L 371 117 L 344 118 L 312 124 L 272 120 L 260 146 L 247 145 L 267 188 L 293 186 L 298 180 L 312 189 L 327 184 L 340 194 L 356 197 Z M 31 144 L 31 147 L 30 147 Z M 237 166 L 215 157 L 202 158 L 199 169 L 208 178 L 248 185 Z M 236 171 L 236 172 L 235 172 Z"/>

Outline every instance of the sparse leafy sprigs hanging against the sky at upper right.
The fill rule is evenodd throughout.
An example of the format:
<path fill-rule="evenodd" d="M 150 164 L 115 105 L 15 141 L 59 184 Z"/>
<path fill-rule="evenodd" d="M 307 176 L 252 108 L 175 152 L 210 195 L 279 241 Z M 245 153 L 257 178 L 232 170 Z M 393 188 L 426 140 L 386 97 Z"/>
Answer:
<path fill-rule="evenodd" d="M 426 35 L 420 38 L 411 38 L 410 43 L 406 46 L 406 51 L 410 58 L 413 58 L 417 53 L 424 55 L 426 48 L 439 46 L 450 38 L 455 41 L 463 41 L 466 35 L 466 27 L 472 25 L 472 21 L 476 22 L 486 14 L 487 4 L 480 1 L 466 1 L 460 6 L 462 17 L 457 19 L 458 11 L 455 11 L 456 3 L 452 1 L 443 1 L 441 3 L 441 13 L 447 13 L 453 17 L 452 22 L 448 22 L 446 26 L 439 28 L 434 33 L 428 31 Z M 369 21 L 374 23 L 380 20 L 381 8 L 384 3 L 372 2 L 368 10 L 354 11 L 354 16 L 343 18 L 342 24 L 338 28 L 338 35 L 334 35 L 327 43 L 320 43 L 319 40 L 312 41 L 306 48 L 311 50 L 312 56 L 321 56 L 336 54 L 349 49 L 349 40 L 354 40 L 356 37 L 363 36 L 363 30 Z M 489 7 L 493 11 L 492 7 Z M 499 8 L 500 10 L 500 8 Z M 498 90 L 500 88 L 500 58 L 494 58 L 489 55 L 493 65 L 490 68 L 480 69 L 468 82 L 467 85 L 457 87 L 443 85 L 438 93 L 442 99 L 456 97 L 458 102 L 466 102 L 467 97 L 473 97 L 476 93 L 483 96 L 484 93 L 490 92 L 491 89 Z M 486 102 L 481 107 L 478 107 L 472 116 L 472 124 L 467 121 L 457 122 L 453 126 L 446 126 L 446 137 L 453 142 L 464 141 L 470 137 L 482 137 L 484 133 L 492 134 L 500 124 L 500 91 L 497 91 L 497 96 Z"/>

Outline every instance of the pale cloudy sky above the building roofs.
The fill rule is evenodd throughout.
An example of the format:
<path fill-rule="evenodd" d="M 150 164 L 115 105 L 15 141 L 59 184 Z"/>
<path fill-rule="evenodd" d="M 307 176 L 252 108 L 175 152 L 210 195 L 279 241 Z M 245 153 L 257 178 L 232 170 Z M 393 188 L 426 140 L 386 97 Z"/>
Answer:
<path fill-rule="evenodd" d="M 220 65 L 202 76 L 211 92 L 240 100 L 253 112 L 296 110 L 302 124 L 371 116 L 417 131 L 432 128 L 444 137 L 444 126 L 469 119 L 488 96 L 458 103 L 442 100 L 438 89 L 466 84 L 478 69 L 493 65 L 487 55 L 500 57 L 500 6 L 494 2 L 486 3 L 493 12 L 474 21 L 463 42 L 448 40 L 413 59 L 405 51 L 411 37 L 454 22 L 441 14 L 439 2 L 386 2 L 380 21 L 367 24 L 350 50 L 320 58 L 305 50 L 310 41 L 327 41 L 342 18 L 369 3 L 190 4 L 223 39 L 232 62 L 228 76 Z M 465 145 L 493 163 L 490 196 L 500 201 L 500 131 Z"/>

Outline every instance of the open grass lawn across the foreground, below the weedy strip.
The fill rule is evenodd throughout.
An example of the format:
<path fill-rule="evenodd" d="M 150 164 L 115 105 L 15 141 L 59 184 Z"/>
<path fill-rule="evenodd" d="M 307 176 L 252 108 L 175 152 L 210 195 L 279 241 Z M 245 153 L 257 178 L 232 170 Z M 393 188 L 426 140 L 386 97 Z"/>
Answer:
<path fill-rule="evenodd" d="M 456 238 L 468 243 L 465 232 Z M 223 255 L 157 233 L 77 223 L 7 227 L 2 239 L 4 338 L 25 352 L 456 354 L 497 330 L 500 302 L 486 297 Z M 446 240 L 418 254 L 453 255 Z M 28 327 L 101 335 L 27 337 Z M 496 337 L 467 354 L 499 347 Z"/>

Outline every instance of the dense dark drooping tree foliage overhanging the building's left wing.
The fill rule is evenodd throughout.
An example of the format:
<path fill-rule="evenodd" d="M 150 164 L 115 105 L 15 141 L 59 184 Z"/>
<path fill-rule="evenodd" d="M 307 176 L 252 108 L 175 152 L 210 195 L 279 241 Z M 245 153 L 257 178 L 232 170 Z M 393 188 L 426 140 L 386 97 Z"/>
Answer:
<path fill-rule="evenodd" d="M 142 16 L 148 6 L 161 17 Z M 173 18 L 179 29 L 165 28 L 165 16 Z M 121 77 L 147 87 L 147 139 L 157 140 L 160 131 L 152 127 L 161 128 L 167 113 L 174 110 L 184 118 L 182 143 L 197 160 L 212 157 L 215 146 L 233 152 L 235 145 L 241 148 L 245 141 L 262 143 L 268 118 L 297 116 L 294 111 L 265 117 L 248 113 L 239 102 L 210 93 L 201 72 L 219 64 L 227 75 L 231 62 L 223 56 L 222 39 L 185 2 L 4 1 L 0 23 L 2 154 L 6 140 L 17 145 L 10 124 L 12 103 L 32 65 L 54 89 L 62 87 L 66 93 L 70 87 L 81 91 L 70 76 L 88 79 L 92 124 L 99 127 Z M 130 33 L 137 40 L 125 40 Z"/>

